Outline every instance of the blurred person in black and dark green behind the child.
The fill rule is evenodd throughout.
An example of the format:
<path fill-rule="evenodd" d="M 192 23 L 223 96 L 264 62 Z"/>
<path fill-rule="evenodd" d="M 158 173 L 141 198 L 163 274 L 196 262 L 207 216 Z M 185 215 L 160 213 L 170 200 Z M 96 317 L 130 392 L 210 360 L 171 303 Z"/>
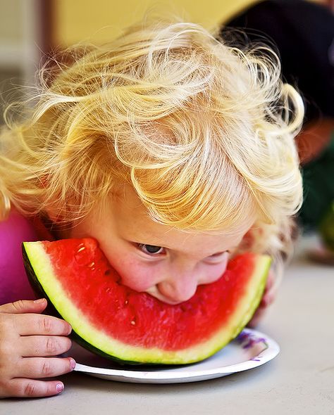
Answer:
<path fill-rule="evenodd" d="M 227 39 L 237 29 L 244 41 L 246 32 L 248 39 L 273 46 L 280 56 L 283 79 L 302 94 L 305 117 L 297 146 L 304 203 L 298 219 L 304 230 L 318 230 L 322 235 L 326 233 L 323 223 L 334 227 L 330 220 L 323 222 L 334 200 L 333 3 L 263 0 L 225 19 L 221 30 Z M 328 245 L 328 238 L 323 241 Z"/>

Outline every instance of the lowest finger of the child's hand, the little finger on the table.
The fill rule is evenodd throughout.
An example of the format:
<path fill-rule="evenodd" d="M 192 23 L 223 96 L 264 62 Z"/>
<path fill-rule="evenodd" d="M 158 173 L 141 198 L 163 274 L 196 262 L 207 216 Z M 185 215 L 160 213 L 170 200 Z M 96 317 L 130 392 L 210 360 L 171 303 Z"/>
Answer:
<path fill-rule="evenodd" d="M 33 379 L 11 379 L 6 385 L 4 397 L 43 397 L 58 395 L 64 385 L 60 381 L 35 381 Z M 0 395 L 1 397 L 1 395 Z"/>

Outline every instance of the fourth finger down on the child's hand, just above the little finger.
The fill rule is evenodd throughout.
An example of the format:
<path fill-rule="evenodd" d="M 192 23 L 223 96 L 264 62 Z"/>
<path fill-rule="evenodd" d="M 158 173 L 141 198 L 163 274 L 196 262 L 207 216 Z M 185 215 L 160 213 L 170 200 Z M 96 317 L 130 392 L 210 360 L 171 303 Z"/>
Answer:
<path fill-rule="evenodd" d="M 22 378 L 53 378 L 73 371 L 75 360 L 71 357 L 23 357 L 17 365 Z"/>

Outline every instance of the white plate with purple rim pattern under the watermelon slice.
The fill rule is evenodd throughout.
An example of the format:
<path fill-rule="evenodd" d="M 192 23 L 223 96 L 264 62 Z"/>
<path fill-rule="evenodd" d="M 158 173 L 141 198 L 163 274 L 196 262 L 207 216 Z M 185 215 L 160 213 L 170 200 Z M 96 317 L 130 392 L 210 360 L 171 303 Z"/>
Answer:
<path fill-rule="evenodd" d="M 75 371 L 109 381 L 131 383 L 185 383 L 219 378 L 254 369 L 280 352 L 275 340 L 245 328 L 235 340 L 203 362 L 182 366 L 122 366 L 76 345 L 68 355 L 76 359 Z"/>

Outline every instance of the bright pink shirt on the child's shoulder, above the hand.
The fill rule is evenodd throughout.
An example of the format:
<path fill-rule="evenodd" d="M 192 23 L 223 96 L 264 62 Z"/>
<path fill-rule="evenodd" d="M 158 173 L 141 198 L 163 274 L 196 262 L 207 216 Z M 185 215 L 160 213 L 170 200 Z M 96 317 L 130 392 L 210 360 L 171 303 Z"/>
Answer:
<path fill-rule="evenodd" d="M 36 298 L 25 274 L 21 252 L 22 242 L 41 239 L 35 225 L 16 211 L 0 222 L 0 305 Z"/>

